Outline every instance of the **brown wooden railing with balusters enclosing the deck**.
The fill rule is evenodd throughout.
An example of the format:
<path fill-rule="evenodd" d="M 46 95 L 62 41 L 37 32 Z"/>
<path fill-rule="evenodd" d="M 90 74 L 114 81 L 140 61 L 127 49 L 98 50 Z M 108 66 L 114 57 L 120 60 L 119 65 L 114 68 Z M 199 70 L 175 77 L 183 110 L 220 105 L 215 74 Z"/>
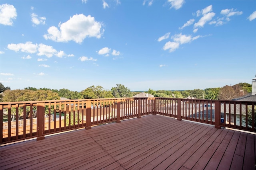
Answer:
<path fill-rule="evenodd" d="M 254 113 L 254 114 L 253 114 Z M 0 143 L 159 114 L 256 131 L 256 102 L 177 98 L 111 98 L 0 103 Z"/>

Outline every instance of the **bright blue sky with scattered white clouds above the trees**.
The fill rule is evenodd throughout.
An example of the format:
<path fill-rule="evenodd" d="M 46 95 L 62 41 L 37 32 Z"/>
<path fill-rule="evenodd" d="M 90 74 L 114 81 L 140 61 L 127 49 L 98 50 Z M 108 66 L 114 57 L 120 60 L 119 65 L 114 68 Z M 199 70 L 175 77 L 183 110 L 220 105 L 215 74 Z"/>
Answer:
<path fill-rule="evenodd" d="M 0 82 L 12 90 L 193 90 L 255 78 L 255 0 L 0 5 Z"/>

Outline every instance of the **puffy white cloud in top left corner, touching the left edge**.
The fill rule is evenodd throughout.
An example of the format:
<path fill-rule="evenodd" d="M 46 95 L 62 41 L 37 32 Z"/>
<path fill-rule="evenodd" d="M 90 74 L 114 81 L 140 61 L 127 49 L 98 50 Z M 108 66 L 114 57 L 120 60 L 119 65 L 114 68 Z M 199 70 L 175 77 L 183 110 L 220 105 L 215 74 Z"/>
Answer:
<path fill-rule="evenodd" d="M 12 26 L 13 20 L 17 17 L 16 8 L 13 5 L 0 5 L 0 24 Z"/>

